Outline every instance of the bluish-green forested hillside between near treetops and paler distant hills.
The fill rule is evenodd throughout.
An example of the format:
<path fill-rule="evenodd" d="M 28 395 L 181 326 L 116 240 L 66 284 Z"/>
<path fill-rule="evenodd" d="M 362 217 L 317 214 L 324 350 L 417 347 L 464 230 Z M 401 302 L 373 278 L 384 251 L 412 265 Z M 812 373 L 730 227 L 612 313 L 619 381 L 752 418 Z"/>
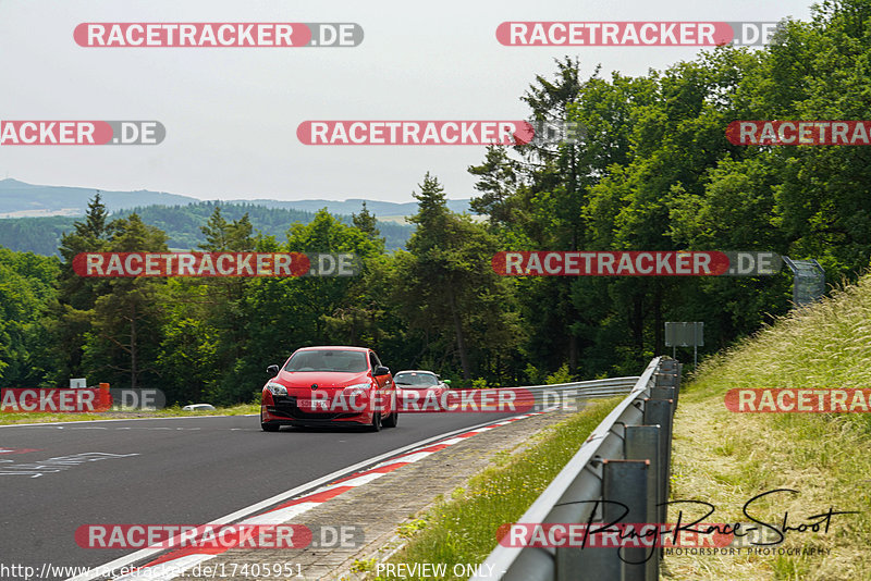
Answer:
<path fill-rule="evenodd" d="M 256 231 L 278 237 L 282 237 L 291 224 L 296 222 L 307 224 L 315 218 L 315 212 L 302 210 L 216 201 L 185 206 L 144 206 L 132 210 L 121 210 L 113 213 L 112 218 L 123 218 L 136 213 L 144 222 L 167 233 L 167 244 L 170 248 L 192 249 L 205 242 L 199 228 L 218 206 L 221 207 L 228 219 L 236 220 L 248 214 Z M 345 223 L 351 221 L 351 217 L 339 217 L 339 219 Z M 73 228 L 76 220 L 76 218 L 62 215 L 2 219 L 0 220 L 0 246 L 44 256 L 57 255 L 63 234 Z M 413 230 L 406 224 L 380 221 L 378 227 L 384 238 L 384 247 L 388 251 L 403 248 Z"/>

